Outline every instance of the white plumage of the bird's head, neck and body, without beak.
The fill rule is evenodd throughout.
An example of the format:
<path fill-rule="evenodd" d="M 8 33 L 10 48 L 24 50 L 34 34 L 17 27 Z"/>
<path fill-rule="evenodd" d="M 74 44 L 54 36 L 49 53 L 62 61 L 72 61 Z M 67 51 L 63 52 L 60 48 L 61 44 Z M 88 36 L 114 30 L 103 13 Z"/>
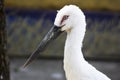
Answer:
<path fill-rule="evenodd" d="M 67 32 L 64 49 L 64 70 L 67 80 L 110 80 L 83 57 L 82 41 L 86 31 L 84 13 L 75 5 L 60 9 L 54 24 Z"/>

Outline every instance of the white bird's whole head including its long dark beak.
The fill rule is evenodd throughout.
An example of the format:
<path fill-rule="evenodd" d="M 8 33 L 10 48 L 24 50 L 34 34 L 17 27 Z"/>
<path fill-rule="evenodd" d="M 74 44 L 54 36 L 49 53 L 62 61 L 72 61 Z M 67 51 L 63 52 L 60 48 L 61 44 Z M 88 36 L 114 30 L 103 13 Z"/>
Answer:
<path fill-rule="evenodd" d="M 66 5 L 62 9 L 60 9 L 56 15 L 53 27 L 45 35 L 37 49 L 28 58 L 23 67 L 26 67 L 36 57 L 38 57 L 39 53 L 43 52 L 46 46 L 51 41 L 56 39 L 62 32 L 70 32 L 73 28 L 75 28 L 75 26 L 77 25 L 76 23 L 80 23 L 80 21 L 85 22 L 85 17 L 83 12 L 77 6 Z"/>

